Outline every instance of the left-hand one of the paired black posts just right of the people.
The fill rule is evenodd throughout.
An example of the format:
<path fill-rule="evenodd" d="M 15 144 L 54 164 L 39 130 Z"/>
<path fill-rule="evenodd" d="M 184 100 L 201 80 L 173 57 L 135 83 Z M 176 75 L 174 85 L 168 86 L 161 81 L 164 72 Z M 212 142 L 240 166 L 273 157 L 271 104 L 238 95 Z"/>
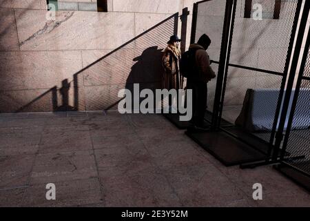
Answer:
<path fill-rule="evenodd" d="M 227 0 L 225 7 L 225 17 L 222 33 L 222 42 L 220 46 L 220 61 L 218 64 L 218 77 L 216 81 L 216 91 L 214 95 L 214 108 L 212 113 L 211 128 L 213 130 L 217 128 L 218 112 L 220 107 L 220 97 L 222 95 L 223 89 L 223 79 L 225 74 L 226 59 L 227 59 L 227 47 L 229 41 L 229 28 L 231 23 L 231 11 L 233 8 L 234 0 Z"/>

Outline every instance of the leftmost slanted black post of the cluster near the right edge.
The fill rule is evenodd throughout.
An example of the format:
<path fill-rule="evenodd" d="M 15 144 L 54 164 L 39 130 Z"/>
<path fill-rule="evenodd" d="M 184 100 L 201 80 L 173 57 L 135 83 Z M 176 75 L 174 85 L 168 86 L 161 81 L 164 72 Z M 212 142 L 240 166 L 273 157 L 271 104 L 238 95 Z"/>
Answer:
<path fill-rule="evenodd" d="M 274 148 L 273 142 L 275 140 L 276 128 L 278 126 L 279 115 L 280 115 L 281 105 L 282 105 L 282 101 L 283 101 L 283 95 L 284 95 L 284 91 L 285 91 L 285 83 L 287 82 L 287 75 L 289 73 L 289 64 L 290 64 L 291 55 L 293 52 L 293 44 L 295 41 L 295 37 L 297 35 L 296 31 L 297 31 L 297 27 L 298 27 L 298 20 L 300 17 L 301 6 L 302 6 L 302 0 L 299 0 L 297 3 L 297 6 L 296 6 L 296 13 L 295 13 L 293 26 L 292 26 L 292 30 L 291 30 L 291 39 L 289 39 L 289 48 L 287 50 L 287 59 L 285 61 L 285 68 L 284 68 L 284 72 L 283 72 L 282 83 L 281 83 L 280 93 L 279 93 L 279 97 L 278 97 L 278 104 L 276 107 L 276 114 L 275 114 L 275 117 L 273 120 L 273 127 L 272 127 L 270 140 L 269 140 L 268 155 L 271 155 L 271 151 Z"/>

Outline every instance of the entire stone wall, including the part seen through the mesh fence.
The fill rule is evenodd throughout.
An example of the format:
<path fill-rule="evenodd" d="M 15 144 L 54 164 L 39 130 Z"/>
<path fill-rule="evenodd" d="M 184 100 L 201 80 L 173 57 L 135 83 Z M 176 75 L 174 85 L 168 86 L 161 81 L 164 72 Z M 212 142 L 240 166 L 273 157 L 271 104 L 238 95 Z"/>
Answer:
<path fill-rule="evenodd" d="M 257 1 L 263 3 L 267 0 Z M 162 71 L 158 56 L 161 49 L 165 48 L 169 35 L 174 32 L 174 21 L 169 20 L 130 44 L 126 43 L 175 12 L 181 14 L 183 8 L 188 7 L 187 48 L 194 2 L 196 1 L 109 0 L 109 12 L 58 11 L 56 21 L 47 21 L 45 0 L 0 0 L 0 112 L 55 111 L 64 103 L 68 103 L 69 109 L 73 107 L 79 111 L 103 110 L 117 102 L 119 88 L 134 81 L 143 82 L 143 87 L 158 87 Z M 291 2 L 293 1 L 283 1 L 283 4 Z M 281 21 L 269 20 L 266 23 L 265 20 L 257 21 L 253 26 L 250 19 L 242 18 L 244 3 L 245 0 L 239 0 L 236 10 L 235 29 L 242 32 L 234 33 L 231 63 L 280 72 L 283 63 L 276 62 L 272 57 L 278 59 L 282 56 L 282 60 L 285 57 L 282 51 L 287 46 L 277 45 L 279 38 L 287 38 L 289 35 L 284 32 L 287 30 L 285 23 L 281 28 L 277 24 Z M 225 0 L 203 3 L 199 10 L 200 24 L 198 23 L 196 39 L 207 33 L 212 39 L 209 55 L 211 59 L 218 60 Z M 287 15 L 285 11 L 281 13 Z M 176 23 L 180 35 L 180 19 Z M 249 38 L 245 39 L 245 36 Z M 254 42 L 257 37 L 260 40 Z M 254 45 L 251 44 L 252 40 Z M 261 44 L 262 41 L 266 42 Z M 122 47 L 119 48 L 120 46 Z M 145 64 L 133 61 L 143 52 L 148 56 Z M 108 56 L 94 67 L 81 71 L 105 55 Z M 156 55 L 157 58 L 149 60 L 150 55 Z M 138 65 L 135 66 L 136 63 Z M 130 77 L 132 67 L 134 78 Z M 217 70 L 215 64 L 213 67 Z M 141 75 L 148 74 L 138 78 L 136 70 L 141 68 Z M 158 73 L 152 70 L 158 70 Z M 215 84 L 216 80 L 209 84 L 209 107 L 213 103 L 210 97 L 214 96 Z M 274 87 L 278 84 L 278 77 L 271 79 L 263 74 L 230 68 L 227 84 L 229 92 L 225 97 L 225 104 L 242 105 L 245 91 L 249 87 Z"/>

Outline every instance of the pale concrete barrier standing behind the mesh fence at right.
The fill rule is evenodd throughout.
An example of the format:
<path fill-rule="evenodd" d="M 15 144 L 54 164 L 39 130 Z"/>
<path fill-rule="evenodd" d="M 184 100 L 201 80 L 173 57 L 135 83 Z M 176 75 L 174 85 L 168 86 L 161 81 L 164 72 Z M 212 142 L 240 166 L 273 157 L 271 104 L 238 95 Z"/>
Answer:
<path fill-rule="evenodd" d="M 273 120 L 276 115 L 279 94 L 280 90 L 278 89 L 247 89 L 242 110 L 237 117 L 235 124 L 250 132 L 271 131 Z M 289 110 L 291 110 L 294 94 L 295 90 L 293 90 L 291 94 Z M 289 115 L 287 115 L 285 121 L 285 130 L 288 121 Z M 307 128 L 310 128 L 310 90 L 302 88 L 300 89 L 291 129 L 300 130 Z"/>

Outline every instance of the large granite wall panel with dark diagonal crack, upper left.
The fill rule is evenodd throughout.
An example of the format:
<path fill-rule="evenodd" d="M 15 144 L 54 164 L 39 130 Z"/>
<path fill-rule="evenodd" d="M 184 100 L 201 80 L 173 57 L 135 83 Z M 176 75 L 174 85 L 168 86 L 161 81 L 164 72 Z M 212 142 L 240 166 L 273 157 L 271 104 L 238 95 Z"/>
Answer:
<path fill-rule="evenodd" d="M 58 11 L 56 21 L 44 10 L 16 14 L 21 50 L 110 49 L 134 37 L 132 13 Z"/>

